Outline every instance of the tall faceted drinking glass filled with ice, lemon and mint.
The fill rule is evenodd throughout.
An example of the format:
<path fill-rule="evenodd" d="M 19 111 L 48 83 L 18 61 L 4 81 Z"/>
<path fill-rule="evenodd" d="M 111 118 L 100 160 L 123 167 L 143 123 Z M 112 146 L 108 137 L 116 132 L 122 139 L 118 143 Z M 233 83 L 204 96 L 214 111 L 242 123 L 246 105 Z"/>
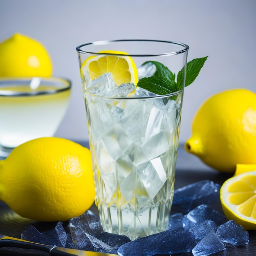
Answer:
<path fill-rule="evenodd" d="M 167 228 L 188 49 L 157 40 L 100 41 L 76 48 L 95 203 L 107 232 L 134 240 Z M 177 76 L 177 92 L 158 95 L 139 87 L 142 81 L 165 87 L 170 79 L 177 83 Z"/>

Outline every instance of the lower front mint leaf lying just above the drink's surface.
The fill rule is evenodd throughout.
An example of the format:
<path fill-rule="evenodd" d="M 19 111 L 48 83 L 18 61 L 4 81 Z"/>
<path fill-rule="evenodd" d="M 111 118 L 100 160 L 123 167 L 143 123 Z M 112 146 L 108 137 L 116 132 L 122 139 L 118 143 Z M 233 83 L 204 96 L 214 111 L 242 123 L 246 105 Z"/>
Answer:
<path fill-rule="evenodd" d="M 150 76 L 139 80 L 137 86 L 158 95 L 165 95 L 177 92 L 177 83 L 164 76 Z"/>

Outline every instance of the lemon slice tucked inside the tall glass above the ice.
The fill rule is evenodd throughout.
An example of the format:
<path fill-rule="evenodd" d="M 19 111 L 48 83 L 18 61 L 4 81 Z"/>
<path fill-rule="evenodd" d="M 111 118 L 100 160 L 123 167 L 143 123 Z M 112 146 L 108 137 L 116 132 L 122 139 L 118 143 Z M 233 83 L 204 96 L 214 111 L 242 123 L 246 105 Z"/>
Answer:
<path fill-rule="evenodd" d="M 115 55 L 90 56 L 81 66 L 81 76 L 85 70 L 90 75 L 90 81 L 97 79 L 105 73 L 111 73 L 115 83 L 119 86 L 122 83 L 138 83 L 138 72 L 133 59 L 125 56 L 127 53 L 112 50 L 101 51 L 99 53 Z"/>

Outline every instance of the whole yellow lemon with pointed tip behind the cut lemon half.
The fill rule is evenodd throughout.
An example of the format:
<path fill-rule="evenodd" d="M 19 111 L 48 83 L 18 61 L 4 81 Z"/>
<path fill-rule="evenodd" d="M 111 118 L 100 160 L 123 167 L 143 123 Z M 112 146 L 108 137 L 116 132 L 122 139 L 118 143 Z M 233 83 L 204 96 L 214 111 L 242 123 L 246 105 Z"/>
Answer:
<path fill-rule="evenodd" d="M 185 149 L 226 173 L 256 164 L 256 94 L 233 89 L 210 97 L 195 114 Z"/>

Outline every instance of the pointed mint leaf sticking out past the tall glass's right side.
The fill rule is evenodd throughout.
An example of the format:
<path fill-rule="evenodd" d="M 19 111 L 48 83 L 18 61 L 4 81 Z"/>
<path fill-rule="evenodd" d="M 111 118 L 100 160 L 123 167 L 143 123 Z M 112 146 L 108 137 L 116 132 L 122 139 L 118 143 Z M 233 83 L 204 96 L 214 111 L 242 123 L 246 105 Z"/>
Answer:
<path fill-rule="evenodd" d="M 195 58 L 192 61 L 189 61 L 186 65 L 186 81 L 185 81 L 185 87 L 193 83 L 195 81 L 196 77 L 198 76 L 201 68 L 204 65 L 204 62 L 207 60 L 208 56 L 203 58 Z M 182 89 L 182 78 L 184 75 L 184 67 L 182 70 L 179 71 L 177 75 L 177 85 L 178 88 Z"/>

